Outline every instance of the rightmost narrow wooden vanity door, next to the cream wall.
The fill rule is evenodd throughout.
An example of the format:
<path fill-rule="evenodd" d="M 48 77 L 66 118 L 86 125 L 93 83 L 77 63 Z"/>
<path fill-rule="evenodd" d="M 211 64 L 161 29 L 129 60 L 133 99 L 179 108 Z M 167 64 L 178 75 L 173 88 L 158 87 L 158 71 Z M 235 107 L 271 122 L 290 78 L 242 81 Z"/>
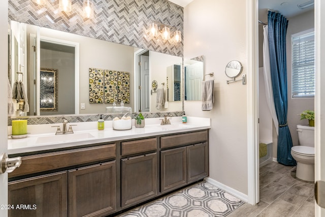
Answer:
<path fill-rule="evenodd" d="M 208 176 L 208 143 L 187 146 L 187 183 Z"/>

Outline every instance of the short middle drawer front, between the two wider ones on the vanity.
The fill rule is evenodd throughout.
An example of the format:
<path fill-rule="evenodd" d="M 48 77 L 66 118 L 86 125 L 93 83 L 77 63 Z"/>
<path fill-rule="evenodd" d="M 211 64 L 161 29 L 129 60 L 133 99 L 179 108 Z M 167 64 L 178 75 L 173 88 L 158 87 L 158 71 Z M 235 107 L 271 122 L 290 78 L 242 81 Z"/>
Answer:
<path fill-rule="evenodd" d="M 157 138 L 122 142 L 121 149 L 122 156 L 157 150 Z"/>

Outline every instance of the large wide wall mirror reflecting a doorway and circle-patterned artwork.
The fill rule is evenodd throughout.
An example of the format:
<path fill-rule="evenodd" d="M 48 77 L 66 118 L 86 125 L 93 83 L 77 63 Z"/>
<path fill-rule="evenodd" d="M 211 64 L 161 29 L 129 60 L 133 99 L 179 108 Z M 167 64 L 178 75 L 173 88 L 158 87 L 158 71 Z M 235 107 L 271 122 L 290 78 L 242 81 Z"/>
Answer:
<path fill-rule="evenodd" d="M 129 103 L 125 106 L 132 107 L 134 112 L 182 111 L 180 94 L 172 97 L 161 110 L 155 108 L 155 95 L 150 95 L 152 80 L 158 82 L 158 88 L 167 89 L 169 67 L 176 65 L 182 69 L 182 57 L 16 21 L 11 21 L 10 38 L 9 78 L 12 86 L 16 81 L 25 84 L 29 104 L 28 112 L 18 110 L 14 116 L 105 113 L 111 104 L 89 102 L 89 69 L 129 73 Z M 139 65 L 138 58 L 142 57 Z M 143 75 L 141 70 L 145 71 Z M 168 83 L 168 86 L 176 85 L 175 88 L 179 88 L 176 92 L 181 93 L 182 72 L 174 74 L 173 79 L 178 84 Z M 54 78 L 56 82 L 52 81 Z M 41 88 L 45 81 L 50 82 L 47 90 Z M 44 92 L 47 97 L 43 97 Z M 147 102 L 141 103 L 143 99 Z M 41 109 L 42 103 L 55 104 L 56 109 Z M 140 107 L 141 104 L 145 106 Z"/>

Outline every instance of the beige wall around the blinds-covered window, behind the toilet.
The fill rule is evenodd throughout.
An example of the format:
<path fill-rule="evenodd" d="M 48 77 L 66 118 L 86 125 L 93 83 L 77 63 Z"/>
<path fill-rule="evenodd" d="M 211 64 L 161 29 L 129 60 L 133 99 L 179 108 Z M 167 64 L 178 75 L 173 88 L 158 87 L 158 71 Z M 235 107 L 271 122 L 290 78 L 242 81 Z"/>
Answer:
<path fill-rule="evenodd" d="M 286 33 L 286 53 L 287 53 L 287 79 L 288 79 L 288 114 L 287 121 L 293 144 L 298 145 L 297 125 L 308 125 L 308 120 L 300 120 L 300 114 L 304 110 L 314 110 L 314 98 L 293 99 L 291 97 L 291 35 L 304 30 L 314 28 L 314 10 L 308 11 L 299 16 L 288 19 L 288 29 Z"/>

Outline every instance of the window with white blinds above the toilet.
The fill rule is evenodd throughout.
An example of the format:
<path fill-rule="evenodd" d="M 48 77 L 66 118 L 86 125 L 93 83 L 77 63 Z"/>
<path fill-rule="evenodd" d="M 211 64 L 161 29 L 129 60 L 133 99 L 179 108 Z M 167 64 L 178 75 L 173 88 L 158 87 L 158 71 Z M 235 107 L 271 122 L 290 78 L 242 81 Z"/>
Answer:
<path fill-rule="evenodd" d="M 315 96 L 315 43 L 314 29 L 291 36 L 292 96 Z"/>

